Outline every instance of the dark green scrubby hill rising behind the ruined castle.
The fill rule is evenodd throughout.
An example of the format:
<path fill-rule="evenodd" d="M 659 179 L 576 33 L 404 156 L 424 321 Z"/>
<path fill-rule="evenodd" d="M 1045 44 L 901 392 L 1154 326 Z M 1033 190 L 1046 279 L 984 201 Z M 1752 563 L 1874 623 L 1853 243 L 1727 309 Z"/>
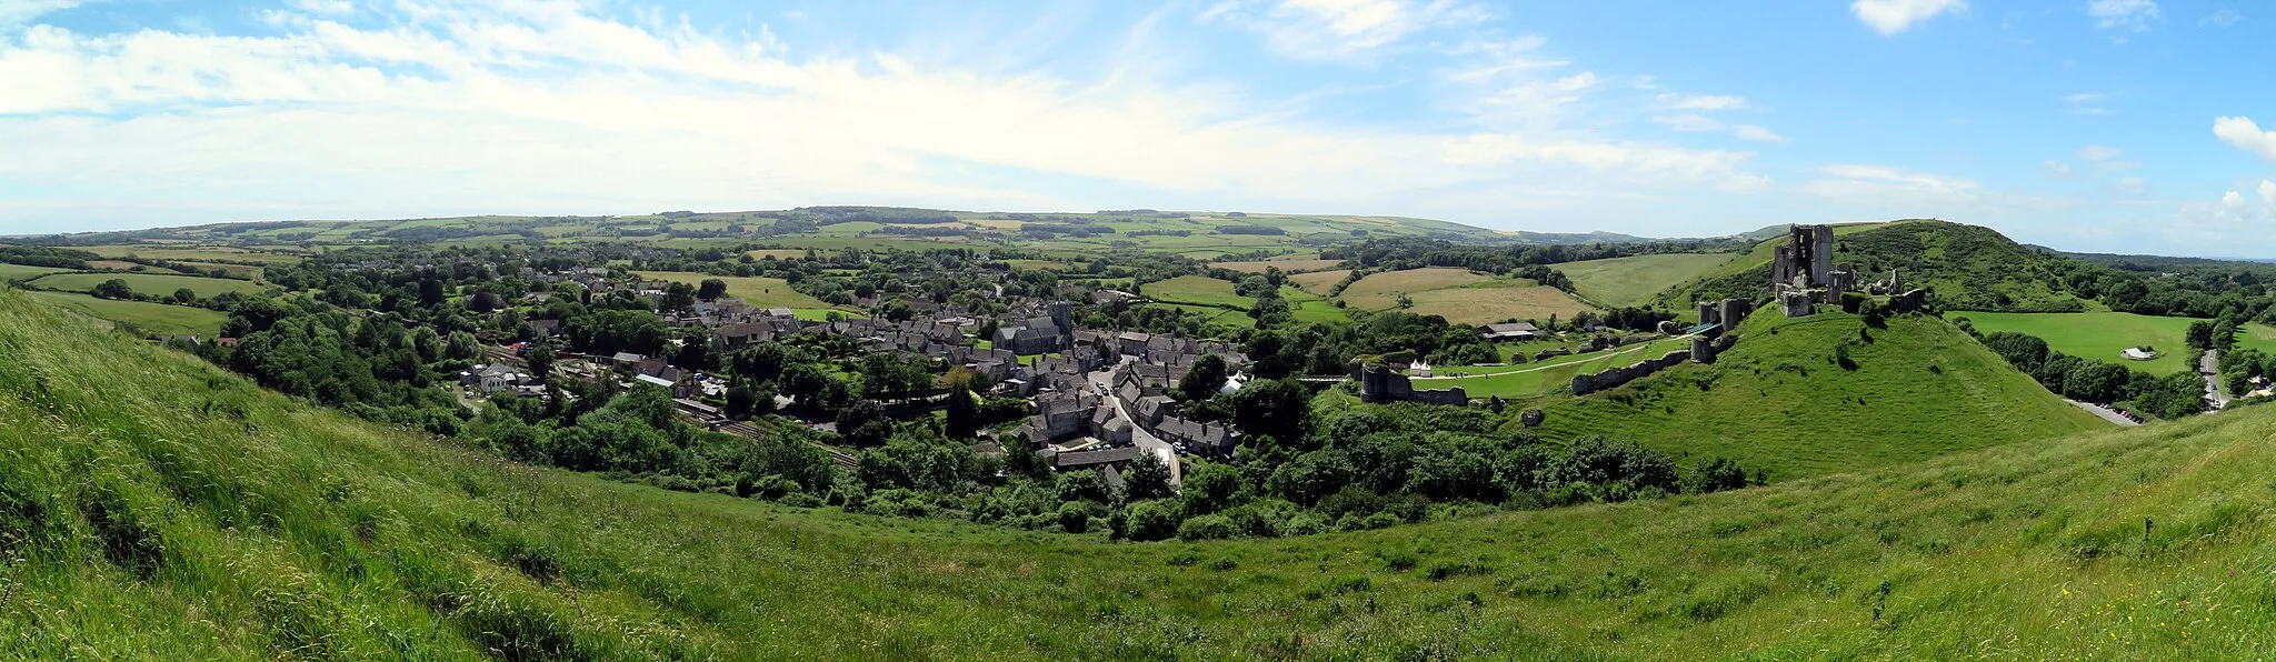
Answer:
<path fill-rule="evenodd" d="M 1784 243 L 1773 237 L 1753 253 L 1655 298 L 1687 309 L 1707 298 L 1762 298 L 1771 284 L 1771 257 Z M 2062 289 L 2053 266 L 2069 257 L 2014 243 L 1991 227 L 1948 221 L 1896 221 L 1834 227 L 1834 264 L 1853 264 L 1862 282 L 1889 278 L 1896 268 L 1907 289 L 1930 287 L 1951 309 L 2080 312 L 2085 305 Z"/>

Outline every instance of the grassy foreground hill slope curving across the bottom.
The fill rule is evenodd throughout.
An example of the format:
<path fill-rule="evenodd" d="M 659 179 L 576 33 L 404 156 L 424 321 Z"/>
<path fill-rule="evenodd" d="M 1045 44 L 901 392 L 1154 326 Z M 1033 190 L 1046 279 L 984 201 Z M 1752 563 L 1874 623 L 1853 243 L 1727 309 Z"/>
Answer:
<path fill-rule="evenodd" d="M 0 642 L 25 657 L 2251 657 L 2276 626 L 2276 407 L 1186 546 L 501 464 L 7 291 L 0 350 Z"/>

